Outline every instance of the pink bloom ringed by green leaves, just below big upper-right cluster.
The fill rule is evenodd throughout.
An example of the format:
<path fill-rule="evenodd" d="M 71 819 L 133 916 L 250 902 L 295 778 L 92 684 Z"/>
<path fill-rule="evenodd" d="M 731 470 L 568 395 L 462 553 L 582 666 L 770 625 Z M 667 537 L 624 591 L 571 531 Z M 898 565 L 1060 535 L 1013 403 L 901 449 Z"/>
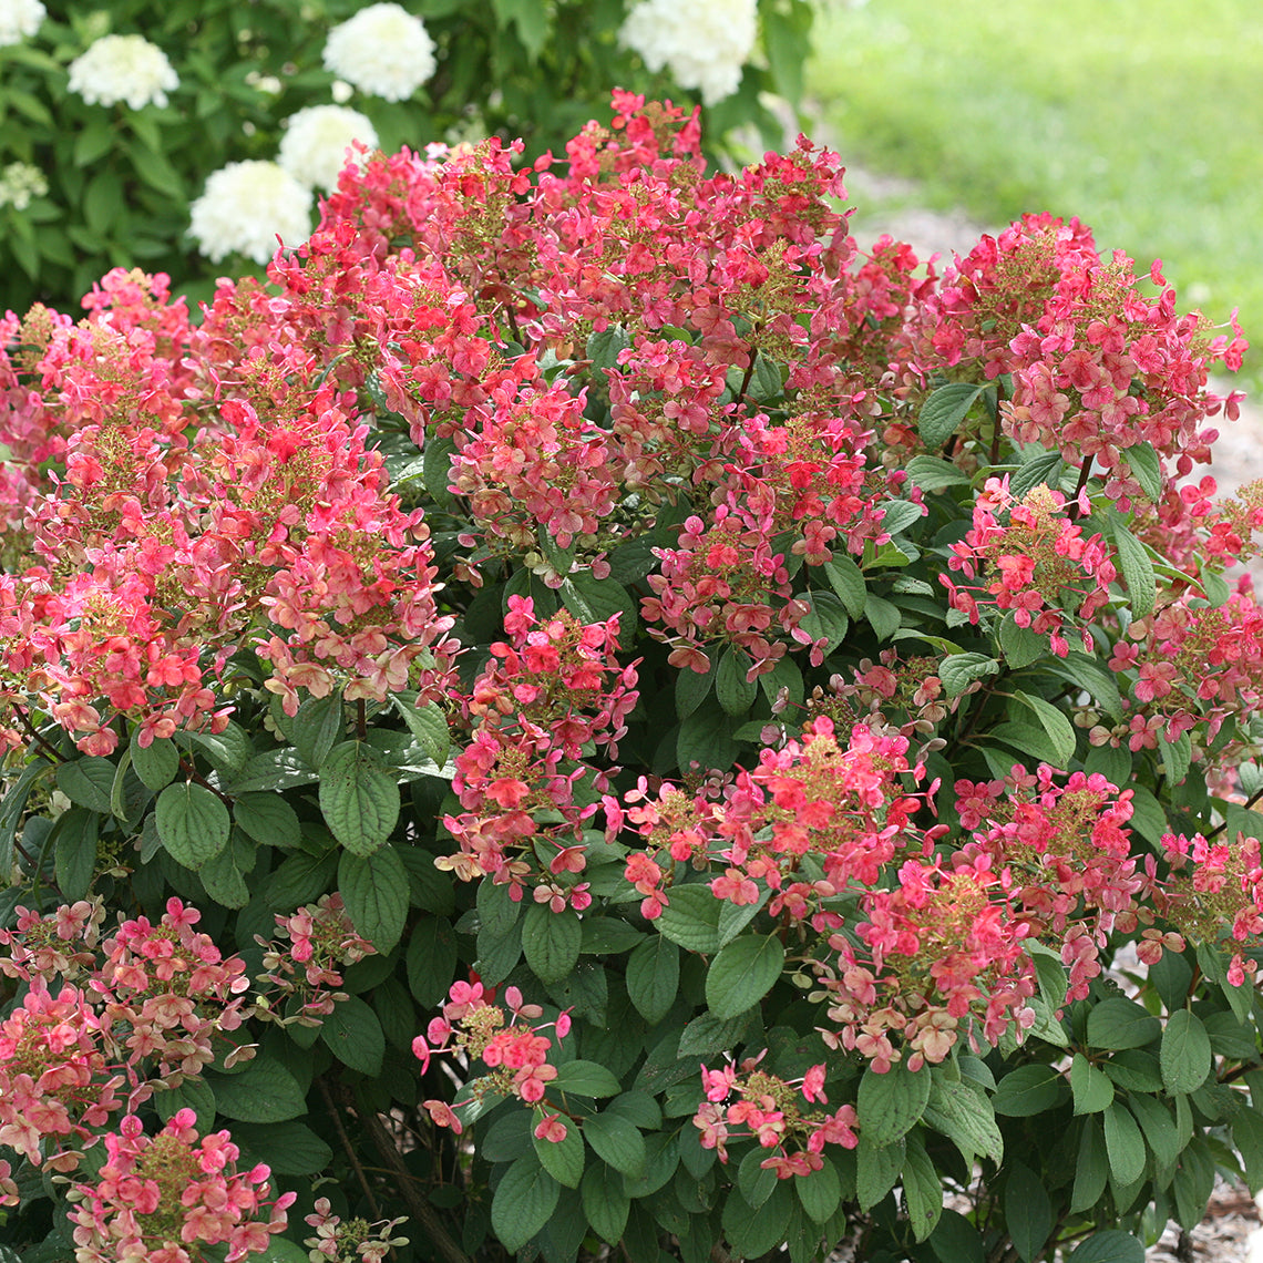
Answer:
<path fill-rule="evenodd" d="M 986 596 L 940 576 L 952 609 L 971 623 L 979 620 L 979 601 L 989 597 L 997 609 L 1013 610 L 1018 626 L 1047 635 L 1060 658 L 1070 652 L 1066 632 L 1072 620 L 1085 650 L 1094 650 L 1089 625 L 1109 604 L 1109 585 L 1118 578 L 1101 536 L 1084 538 L 1082 528 L 1062 512 L 1065 504 L 1060 491 L 1043 485 L 1019 500 L 1009 491 L 1008 476 L 988 479 L 974 503 L 974 528 L 951 546 L 947 558 L 950 570 L 981 580 Z M 1079 506 L 1085 509 L 1086 500 Z M 998 515 L 1005 514 L 1002 522 Z"/>

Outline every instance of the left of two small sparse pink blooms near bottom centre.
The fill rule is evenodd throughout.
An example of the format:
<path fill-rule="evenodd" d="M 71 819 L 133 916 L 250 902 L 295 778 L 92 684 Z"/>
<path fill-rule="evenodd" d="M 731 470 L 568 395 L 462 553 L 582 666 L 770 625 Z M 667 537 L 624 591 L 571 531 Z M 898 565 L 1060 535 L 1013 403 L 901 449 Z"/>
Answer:
<path fill-rule="evenodd" d="M 552 1028 L 558 1039 L 565 1039 L 570 1033 L 570 1014 L 561 1013 L 554 1022 L 532 1026 L 543 1015 L 543 1009 L 538 1004 L 524 1004 L 518 988 L 505 989 L 504 1007 L 493 1004 L 493 997 L 494 991 L 488 993 L 481 981 L 453 983 L 442 1017 L 433 1018 L 426 1034 L 413 1039 L 412 1051 L 423 1072 L 436 1052 L 481 1060 L 490 1074 L 472 1081 L 470 1099 L 499 1092 L 538 1105 L 544 1100 L 548 1084 L 557 1077 L 557 1067 L 547 1061 L 552 1039 L 541 1032 Z M 437 1125 L 462 1130 L 460 1116 L 451 1105 L 437 1100 L 424 1105 Z M 541 1114 L 538 1134 L 560 1143 L 566 1139 L 566 1125 L 556 1115 Z"/>

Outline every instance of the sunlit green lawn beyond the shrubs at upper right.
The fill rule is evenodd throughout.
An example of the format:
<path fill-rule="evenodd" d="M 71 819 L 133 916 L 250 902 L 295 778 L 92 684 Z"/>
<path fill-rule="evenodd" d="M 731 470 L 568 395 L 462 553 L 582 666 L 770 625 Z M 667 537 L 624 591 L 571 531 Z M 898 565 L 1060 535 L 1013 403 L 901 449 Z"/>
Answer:
<path fill-rule="evenodd" d="M 1239 384 L 1263 392 L 1258 0 L 834 0 L 815 45 L 844 162 L 983 222 L 1077 215 L 1142 273 L 1161 258 L 1181 309 L 1240 308 Z"/>

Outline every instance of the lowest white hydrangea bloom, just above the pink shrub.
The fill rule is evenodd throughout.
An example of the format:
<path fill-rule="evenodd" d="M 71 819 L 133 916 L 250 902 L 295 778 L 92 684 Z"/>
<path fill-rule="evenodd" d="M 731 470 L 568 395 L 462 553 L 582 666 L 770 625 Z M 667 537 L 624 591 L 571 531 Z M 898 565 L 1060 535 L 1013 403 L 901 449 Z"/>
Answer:
<path fill-rule="evenodd" d="M 213 263 L 234 253 L 268 263 L 278 236 L 287 246 L 311 236 L 311 191 L 279 163 L 230 162 L 189 207 L 189 232 Z"/>

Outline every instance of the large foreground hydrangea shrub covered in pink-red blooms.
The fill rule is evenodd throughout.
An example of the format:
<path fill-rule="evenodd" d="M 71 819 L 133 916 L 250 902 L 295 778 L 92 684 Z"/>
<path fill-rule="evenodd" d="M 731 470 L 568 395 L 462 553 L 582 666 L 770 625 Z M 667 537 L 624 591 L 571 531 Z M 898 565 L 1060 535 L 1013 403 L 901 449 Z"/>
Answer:
<path fill-rule="evenodd" d="M 1239 331 L 615 106 L 6 321 L 24 1260 L 1140 1263 L 1263 1185 Z"/>

